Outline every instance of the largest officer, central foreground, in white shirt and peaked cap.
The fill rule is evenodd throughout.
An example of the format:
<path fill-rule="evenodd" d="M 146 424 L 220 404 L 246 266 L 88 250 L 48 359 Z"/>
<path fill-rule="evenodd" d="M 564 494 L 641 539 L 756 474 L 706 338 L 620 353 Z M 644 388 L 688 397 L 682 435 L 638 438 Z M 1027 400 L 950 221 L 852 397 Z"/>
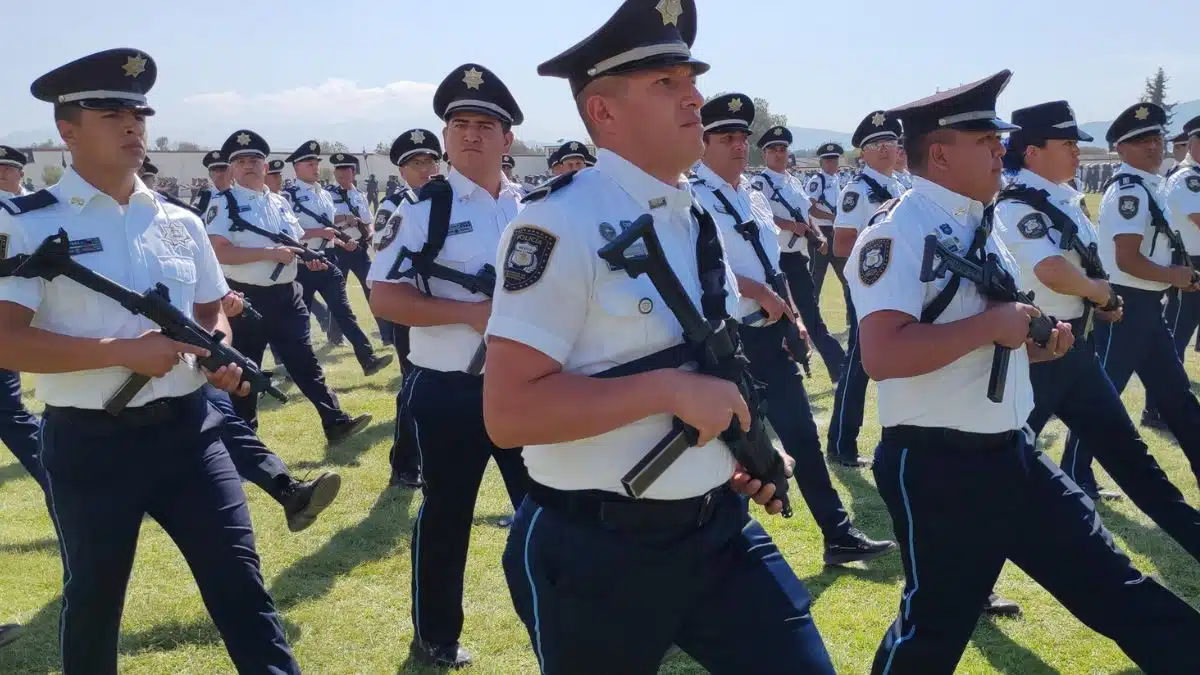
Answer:
<path fill-rule="evenodd" d="M 644 276 L 598 256 L 649 214 L 688 298 L 710 316 L 738 310 L 719 229 L 682 175 L 703 153 L 695 35 L 694 0 L 626 0 L 538 68 L 569 79 L 600 148 L 595 167 L 527 197 L 487 327 L 487 430 L 524 444 L 530 472 L 504 572 L 547 674 L 656 673 L 672 644 L 712 673 L 833 673 L 808 591 L 730 486 L 782 508 L 716 438 L 734 416 L 750 428 L 746 401 L 733 382 L 676 368 L 679 321 Z M 589 377 L 605 371 L 634 374 Z M 697 447 L 626 497 L 622 476 L 672 416 L 698 430 Z"/>

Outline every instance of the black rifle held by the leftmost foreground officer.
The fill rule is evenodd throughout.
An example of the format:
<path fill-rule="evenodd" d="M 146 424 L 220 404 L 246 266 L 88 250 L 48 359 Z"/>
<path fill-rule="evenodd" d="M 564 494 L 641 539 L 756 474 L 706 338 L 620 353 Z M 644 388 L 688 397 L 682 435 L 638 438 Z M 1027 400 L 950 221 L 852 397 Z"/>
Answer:
<path fill-rule="evenodd" d="M 32 253 L 14 256 L 7 262 L 10 265 L 14 265 L 11 276 L 40 277 L 47 281 L 65 276 L 89 291 L 110 298 L 130 313 L 144 316 L 157 323 L 167 338 L 208 350 L 209 356 L 197 357 L 196 360 L 209 372 L 216 372 L 223 365 L 236 365 L 242 371 L 241 381 L 250 383 L 251 395 L 265 392 L 280 402 L 288 401 L 287 394 L 271 384 L 271 374 L 259 369 L 258 364 L 244 357 L 238 350 L 224 345 L 222 342 L 224 335 L 220 330 L 209 333 L 204 327 L 179 311 L 179 307 L 172 305 L 170 292 L 162 283 L 139 294 L 76 262 L 71 257 L 71 240 L 64 229 L 47 237 Z M 149 382 L 150 376 L 134 372 L 104 402 L 104 411 L 112 416 L 119 414 Z"/>

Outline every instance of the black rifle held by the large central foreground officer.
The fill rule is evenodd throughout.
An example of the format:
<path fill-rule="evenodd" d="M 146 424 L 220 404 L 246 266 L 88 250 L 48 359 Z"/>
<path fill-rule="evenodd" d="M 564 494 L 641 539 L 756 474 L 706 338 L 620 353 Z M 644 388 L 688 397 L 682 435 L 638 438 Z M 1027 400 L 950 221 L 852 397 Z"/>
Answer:
<path fill-rule="evenodd" d="M 625 257 L 625 251 L 640 240 L 646 245 L 646 256 Z M 784 516 L 790 518 L 792 508 L 787 498 L 784 458 L 775 452 L 772 444 L 768 435 L 770 424 L 756 410 L 757 387 L 750 380 L 745 368 L 745 357 L 738 348 L 737 323 L 732 321 L 709 322 L 696 309 L 679 277 L 667 263 L 662 243 L 659 240 L 658 233 L 654 232 L 654 219 L 649 214 L 634 221 L 629 229 L 606 244 L 599 253 L 605 262 L 614 269 L 625 270 L 625 274 L 631 279 L 637 279 L 642 274 L 649 277 L 667 309 L 683 327 L 684 340 L 697 350 L 700 372 L 720 377 L 738 386 L 742 396 L 750 406 L 750 431 L 742 431 L 740 423 L 734 418 L 728 429 L 721 432 L 720 438 L 725 441 L 733 453 L 733 458 L 745 468 L 748 474 L 762 480 L 763 484 L 775 485 L 774 498 L 784 503 Z M 696 428 L 678 417 L 674 418 L 673 430 L 620 479 L 625 492 L 634 498 L 641 497 L 662 476 L 662 472 L 679 459 L 684 450 L 696 444 L 700 432 Z"/>

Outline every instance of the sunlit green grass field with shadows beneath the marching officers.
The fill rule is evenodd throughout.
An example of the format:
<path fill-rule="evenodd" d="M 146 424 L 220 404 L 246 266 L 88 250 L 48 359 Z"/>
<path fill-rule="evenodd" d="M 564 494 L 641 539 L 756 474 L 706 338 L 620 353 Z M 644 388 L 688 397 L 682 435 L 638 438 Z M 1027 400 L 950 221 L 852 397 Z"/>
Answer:
<path fill-rule="evenodd" d="M 1098 213 L 1094 196 L 1090 202 L 1092 213 Z M 352 286 L 362 318 L 368 312 L 358 285 Z M 841 292 L 833 275 L 826 283 L 822 307 L 830 329 L 845 339 Z M 323 344 L 323 338 L 316 340 Z M 364 380 L 348 347 L 332 352 L 320 348 L 319 354 L 346 410 L 371 412 L 376 423 L 359 437 L 328 449 L 316 413 L 294 388 L 289 388 L 295 394 L 293 404 L 282 408 L 274 402 L 264 404 L 263 436 L 296 474 L 332 468 L 342 473 L 344 483 L 330 509 L 299 534 L 287 531 L 282 509 L 269 496 L 247 484 L 263 572 L 305 671 L 422 673 L 408 663 L 412 639 L 408 546 L 421 497 L 412 491 L 386 489 L 386 455 L 400 372 L 391 366 Z M 1200 362 L 1190 351 L 1188 370 L 1200 376 Z M 826 429 L 833 390 L 817 357 L 812 375 L 808 388 L 814 414 Z M 878 440 L 874 396 L 871 387 L 859 440 L 863 454 Z M 1136 419 L 1142 406 L 1142 389 L 1136 380 L 1127 389 L 1124 401 Z M 1188 501 L 1200 504 L 1196 483 L 1174 441 L 1153 431 L 1146 436 Z M 1061 456 L 1064 440 L 1066 429 L 1057 422 L 1042 437 L 1055 458 Z M 1097 471 L 1102 482 L 1111 486 L 1099 467 Z M 876 538 L 892 537 L 888 514 L 870 472 L 844 468 L 832 472 L 857 524 Z M 797 506 L 796 518 L 766 519 L 766 525 L 816 598 L 814 614 L 838 671 L 865 673 L 880 638 L 895 616 L 904 581 L 900 557 L 894 555 L 865 568 L 826 569 L 821 565 L 821 533 L 803 502 L 797 501 Z M 1103 504 L 1100 509 L 1105 524 L 1142 571 L 1153 573 L 1200 605 L 1200 573 L 1178 545 L 1127 502 Z M 506 531 L 496 527 L 494 521 L 508 510 L 498 472 L 491 467 L 476 508 L 464 601 L 462 641 L 475 655 L 473 673 L 538 671 L 500 569 Z M 0 453 L 0 622 L 19 621 L 26 627 L 20 640 L 0 650 L 0 673 L 58 671 L 61 566 L 55 537 L 41 491 L 8 453 Z M 1111 641 L 1085 628 L 1014 567 L 1006 567 L 998 591 L 1020 602 L 1025 617 L 980 620 L 959 673 L 1138 671 Z M 233 673 L 182 557 L 150 520 L 143 527 L 130 584 L 120 653 L 122 673 Z M 779 664 L 763 668 L 778 670 Z M 702 669 L 685 656 L 676 656 L 664 664 L 662 673 L 690 674 Z"/>

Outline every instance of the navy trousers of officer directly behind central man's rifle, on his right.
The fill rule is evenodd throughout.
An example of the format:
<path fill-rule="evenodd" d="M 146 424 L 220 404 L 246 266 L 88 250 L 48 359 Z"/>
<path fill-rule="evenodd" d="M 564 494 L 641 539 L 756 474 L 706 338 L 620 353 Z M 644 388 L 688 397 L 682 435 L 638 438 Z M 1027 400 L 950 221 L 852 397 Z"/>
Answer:
<path fill-rule="evenodd" d="M 812 422 L 804 380 L 781 346 L 782 328 L 782 323 L 766 328 L 743 325 L 738 333 L 750 359 L 750 374 L 767 386 L 767 419 L 775 428 L 784 450 L 796 460 L 792 474 L 796 484 L 821 533 L 827 540 L 836 539 L 850 530 L 850 516 L 821 455 L 821 436 Z"/>

